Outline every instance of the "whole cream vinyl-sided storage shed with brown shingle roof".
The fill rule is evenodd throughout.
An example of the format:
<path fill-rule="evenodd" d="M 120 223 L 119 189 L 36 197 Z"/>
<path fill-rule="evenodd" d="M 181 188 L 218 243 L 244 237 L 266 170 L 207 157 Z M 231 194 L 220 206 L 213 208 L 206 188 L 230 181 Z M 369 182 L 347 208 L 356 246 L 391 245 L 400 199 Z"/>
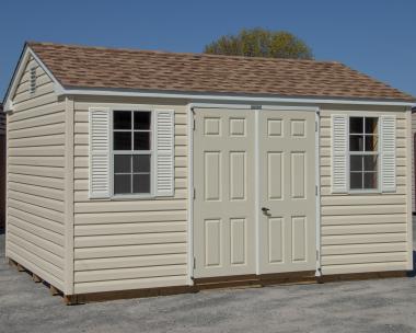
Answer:
<path fill-rule="evenodd" d="M 70 301 L 413 268 L 415 97 L 339 62 L 27 43 L 4 101 L 5 255 Z"/>

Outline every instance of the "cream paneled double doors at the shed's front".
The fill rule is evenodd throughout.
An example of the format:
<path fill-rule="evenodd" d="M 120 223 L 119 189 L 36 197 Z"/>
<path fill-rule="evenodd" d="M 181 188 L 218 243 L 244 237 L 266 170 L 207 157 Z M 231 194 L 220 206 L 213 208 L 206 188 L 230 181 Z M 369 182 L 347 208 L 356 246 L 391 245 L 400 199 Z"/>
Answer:
<path fill-rule="evenodd" d="M 315 113 L 198 108 L 194 277 L 315 269 Z"/>

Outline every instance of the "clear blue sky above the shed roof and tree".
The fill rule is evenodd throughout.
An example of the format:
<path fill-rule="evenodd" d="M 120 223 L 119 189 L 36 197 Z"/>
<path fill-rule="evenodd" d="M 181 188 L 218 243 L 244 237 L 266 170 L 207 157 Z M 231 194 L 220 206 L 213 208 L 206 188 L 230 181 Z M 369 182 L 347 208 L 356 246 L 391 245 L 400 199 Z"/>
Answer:
<path fill-rule="evenodd" d="M 0 100 L 24 41 L 198 53 L 256 26 L 416 95 L 414 0 L 2 0 L 0 11 Z"/>

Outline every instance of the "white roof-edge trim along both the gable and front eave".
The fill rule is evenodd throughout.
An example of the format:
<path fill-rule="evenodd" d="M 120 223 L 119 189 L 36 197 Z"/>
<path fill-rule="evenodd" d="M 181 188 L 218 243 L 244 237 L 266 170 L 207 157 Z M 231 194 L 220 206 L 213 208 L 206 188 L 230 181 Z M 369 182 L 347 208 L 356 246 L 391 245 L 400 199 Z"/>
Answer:
<path fill-rule="evenodd" d="M 91 96 L 124 96 L 124 97 L 148 97 L 148 99 L 176 99 L 188 100 L 192 102 L 229 102 L 229 103 L 290 103 L 290 104 L 348 104 L 348 105 L 374 105 L 374 106 L 415 106 L 415 102 L 400 100 L 375 100 L 375 99 L 347 99 L 347 97 L 311 97 L 311 96 L 280 96 L 271 94 L 231 94 L 231 93 L 200 93 L 184 91 L 163 91 L 163 90 L 131 90 L 131 89 L 91 89 L 79 87 L 63 87 L 54 77 L 47 66 L 37 57 L 27 44 L 24 45 L 21 57 L 14 70 L 12 80 L 7 91 L 3 111 L 13 111 L 12 96 L 14 95 L 20 78 L 22 77 L 25 65 L 30 57 L 33 57 L 41 68 L 50 77 L 54 82 L 55 93 L 58 96 L 66 95 L 91 95 Z"/>

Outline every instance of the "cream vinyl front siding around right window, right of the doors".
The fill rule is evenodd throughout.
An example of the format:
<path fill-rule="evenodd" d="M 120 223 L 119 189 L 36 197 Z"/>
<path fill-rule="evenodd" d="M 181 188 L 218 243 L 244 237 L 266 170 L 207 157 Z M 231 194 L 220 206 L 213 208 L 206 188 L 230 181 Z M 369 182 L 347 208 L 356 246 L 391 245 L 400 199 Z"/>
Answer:
<path fill-rule="evenodd" d="M 379 111 L 379 112 L 378 112 Z M 324 275 L 403 271 L 409 267 L 407 219 L 406 114 L 404 111 L 360 110 L 362 115 L 396 115 L 396 192 L 334 194 L 331 191 L 332 114 L 321 112 L 321 264 Z M 380 163 L 380 161 L 379 161 Z M 349 170 L 348 170 L 349 172 Z M 379 173 L 380 175 L 380 173 Z"/>

